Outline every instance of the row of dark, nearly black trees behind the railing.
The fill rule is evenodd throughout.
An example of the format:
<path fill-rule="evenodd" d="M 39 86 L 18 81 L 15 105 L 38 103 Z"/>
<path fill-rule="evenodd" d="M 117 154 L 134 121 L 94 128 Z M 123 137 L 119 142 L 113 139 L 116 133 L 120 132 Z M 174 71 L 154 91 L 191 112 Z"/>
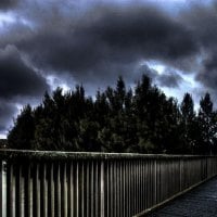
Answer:
<path fill-rule="evenodd" d="M 8 135 L 8 146 L 24 150 L 214 154 L 217 111 L 209 93 L 194 111 L 190 93 L 179 104 L 143 75 L 136 87 L 116 87 L 86 97 L 82 86 L 44 93 L 24 106 Z"/>

